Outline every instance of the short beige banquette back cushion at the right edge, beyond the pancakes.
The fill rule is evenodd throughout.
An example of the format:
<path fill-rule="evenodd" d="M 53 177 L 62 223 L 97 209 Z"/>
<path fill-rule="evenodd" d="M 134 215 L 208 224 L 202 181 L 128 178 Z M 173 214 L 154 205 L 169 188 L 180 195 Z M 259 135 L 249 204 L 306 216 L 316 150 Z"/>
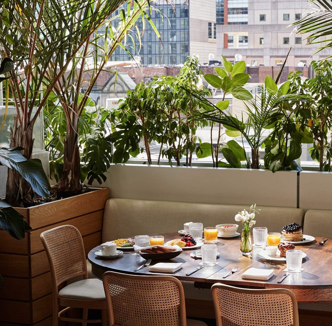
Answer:
<path fill-rule="evenodd" d="M 305 213 L 303 232 L 313 237 L 332 238 L 332 210 L 310 209 Z"/>

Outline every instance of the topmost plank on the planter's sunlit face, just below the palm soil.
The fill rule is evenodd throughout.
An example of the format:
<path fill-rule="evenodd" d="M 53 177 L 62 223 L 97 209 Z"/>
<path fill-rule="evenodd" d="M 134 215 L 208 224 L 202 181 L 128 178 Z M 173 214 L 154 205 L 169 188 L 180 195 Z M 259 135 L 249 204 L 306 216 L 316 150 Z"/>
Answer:
<path fill-rule="evenodd" d="M 63 220 L 101 210 L 109 199 L 108 189 L 61 199 L 29 208 L 29 222 L 33 229 L 53 225 Z"/>

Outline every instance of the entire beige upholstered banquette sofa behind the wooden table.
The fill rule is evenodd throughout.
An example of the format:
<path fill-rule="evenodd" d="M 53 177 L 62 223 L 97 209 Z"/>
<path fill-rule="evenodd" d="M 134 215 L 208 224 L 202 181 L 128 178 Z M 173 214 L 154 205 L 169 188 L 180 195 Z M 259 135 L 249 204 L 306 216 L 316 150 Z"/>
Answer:
<path fill-rule="evenodd" d="M 257 203 L 259 204 L 259 203 Z M 202 222 L 204 226 L 234 223 L 234 216 L 243 205 L 197 204 L 132 199 L 109 199 L 105 204 L 102 241 L 139 234 L 177 232 L 185 222 Z M 281 232 L 284 225 L 296 222 L 304 234 L 332 238 L 332 211 L 258 207 L 255 226 L 265 226 L 270 232 Z M 241 232 L 241 225 L 238 229 Z M 193 282 L 182 282 L 187 298 L 212 300 L 209 289 L 200 289 Z M 199 292 L 199 293 L 198 293 Z M 300 305 L 299 305 L 300 306 Z M 306 308 L 305 304 L 300 306 Z M 311 310 L 330 310 L 328 305 L 310 305 Z M 331 309 L 332 310 L 332 309 Z"/>

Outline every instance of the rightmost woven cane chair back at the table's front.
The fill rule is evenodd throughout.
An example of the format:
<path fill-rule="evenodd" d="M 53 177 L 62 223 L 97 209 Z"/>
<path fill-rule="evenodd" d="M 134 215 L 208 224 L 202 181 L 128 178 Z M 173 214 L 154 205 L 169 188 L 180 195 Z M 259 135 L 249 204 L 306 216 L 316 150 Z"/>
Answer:
<path fill-rule="evenodd" d="M 217 326 L 299 326 L 297 301 L 288 289 L 211 287 Z"/>

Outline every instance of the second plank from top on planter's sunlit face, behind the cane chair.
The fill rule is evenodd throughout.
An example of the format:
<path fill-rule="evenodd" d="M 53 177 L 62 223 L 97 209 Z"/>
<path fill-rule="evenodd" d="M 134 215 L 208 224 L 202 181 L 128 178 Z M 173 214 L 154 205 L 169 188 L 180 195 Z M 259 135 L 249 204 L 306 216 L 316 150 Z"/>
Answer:
<path fill-rule="evenodd" d="M 30 235 L 31 253 L 33 254 L 44 249 L 40 239 L 41 232 L 49 230 L 53 227 L 61 226 L 64 224 L 70 224 L 77 227 L 83 237 L 85 235 L 94 233 L 96 231 L 100 231 L 102 229 L 103 215 L 104 215 L 104 209 L 80 217 L 75 217 L 73 219 L 66 220 L 65 222 L 61 221 L 59 223 L 50 226 L 33 230 Z"/>

